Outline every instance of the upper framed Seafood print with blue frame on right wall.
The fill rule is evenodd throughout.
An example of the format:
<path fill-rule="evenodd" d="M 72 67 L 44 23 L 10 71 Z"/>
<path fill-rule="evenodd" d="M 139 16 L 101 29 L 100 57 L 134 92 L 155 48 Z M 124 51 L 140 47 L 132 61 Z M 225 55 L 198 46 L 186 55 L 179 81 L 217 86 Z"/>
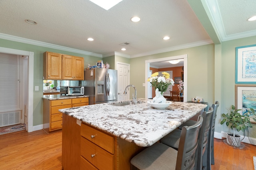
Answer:
<path fill-rule="evenodd" d="M 256 45 L 236 47 L 236 84 L 256 83 Z"/>

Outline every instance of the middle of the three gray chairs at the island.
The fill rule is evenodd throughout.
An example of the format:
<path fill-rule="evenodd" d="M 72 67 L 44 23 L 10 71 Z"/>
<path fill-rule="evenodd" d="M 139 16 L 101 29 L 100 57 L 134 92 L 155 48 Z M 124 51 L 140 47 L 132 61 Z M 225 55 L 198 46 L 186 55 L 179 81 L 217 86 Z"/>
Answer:
<path fill-rule="evenodd" d="M 209 138 L 209 133 L 210 129 L 212 127 L 211 122 L 212 122 L 212 115 L 213 115 L 213 108 L 210 107 L 208 112 L 203 112 L 202 116 L 204 117 L 204 121 L 202 123 L 202 130 L 201 133 L 199 134 L 199 142 L 198 142 L 198 154 L 197 154 L 197 162 L 196 162 L 196 169 L 197 170 L 202 170 L 206 169 L 206 166 L 203 166 L 203 158 L 206 158 L 207 156 L 207 146 L 208 146 L 208 138 Z M 186 126 L 184 126 L 186 127 Z M 182 127 L 183 128 L 183 127 Z M 169 147 L 172 147 L 176 150 L 180 149 L 180 138 L 181 136 L 181 131 L 180 129 L 175 129 L 165 137 L 163 137 L 160 140 L 160 143 L 163 143 L 165 145 L 168 145 Z"/>

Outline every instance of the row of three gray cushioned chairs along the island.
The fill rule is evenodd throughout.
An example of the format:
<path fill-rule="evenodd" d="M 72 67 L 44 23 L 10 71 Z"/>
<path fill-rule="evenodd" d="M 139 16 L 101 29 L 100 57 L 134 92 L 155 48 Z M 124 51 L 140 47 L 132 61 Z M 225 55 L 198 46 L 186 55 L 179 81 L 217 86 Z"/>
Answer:
<path fill-rule="evenodd" d="M 204 111 L 202 115 L 198 116 L 198 121 L 186 121 L 185 123 L 180 125 L 180 127 L 163 137 L 159 143 L 156 143 L 146 148 L 145 150 L 134 156 L 131 160 L 133 169 L 210 170 L 211 164 L 214 164 L 213 140 L 216 112 L 218 106 L 219 102 L 216 101 L 215 104 L 212 104 L 208 111 Z M 188 147 L 187 145 L 190 145 L 190 147 L 192 147 L 195 144 L 191 143 L 193 139 L 190 135 L 188 135 L 189 129 L 192 129 L 194 126 L 198 125 L 200 119 L 203 119 L 202 125 L 200 131 L 198 131 L 197 139 L 194 139 L 197 145 L 195 152 L 196 154 L 192 154 L 192 159 L 189 160 L 191 164 L 186 166 L 184 166 L 185 164 L 180 165 L 180 162 L 184 161 L 183 156 L 188 154 L 186 152 Z M 186 134 L 186 132 L 188 134 Z"/>

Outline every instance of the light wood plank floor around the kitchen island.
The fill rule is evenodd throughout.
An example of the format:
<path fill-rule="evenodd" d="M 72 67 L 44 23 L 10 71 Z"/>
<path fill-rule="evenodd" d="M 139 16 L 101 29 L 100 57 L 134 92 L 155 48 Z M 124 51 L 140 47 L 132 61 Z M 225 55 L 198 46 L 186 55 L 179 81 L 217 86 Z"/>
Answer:
<path fill-rule="evenodd" d="M 215 165 L 212 170 L 254 170 L 256 146 L 243 143 L 234 149 L 214 139 Z M 19 131 L 0 135 L 0 170 L 61 170 L 62 131 Z"/>

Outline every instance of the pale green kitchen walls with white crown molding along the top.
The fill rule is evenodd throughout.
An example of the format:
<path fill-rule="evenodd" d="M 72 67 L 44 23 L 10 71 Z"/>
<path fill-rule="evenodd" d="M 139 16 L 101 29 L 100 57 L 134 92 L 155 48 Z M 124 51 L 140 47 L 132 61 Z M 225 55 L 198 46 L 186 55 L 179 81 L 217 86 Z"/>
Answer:
<path fill-rule="evenodd" d="M 42 108 L 42 89 L 43 89 L 43 53 L 51 51 L 67 55 L 84 57 L 85 68 L 88 64 L 94 65 L 98 60 L 108 62 L 110 68 L 114 69 L 116 62 L 130 64 L 130 84 L 137 88 L 137 97 L 145 97 L 145 61 L 151 59 L 159 59 L 164 57 L 172 57 L 178 55 L 188 55 L 188 100 L 200 96 L 204 98 L 208 105 L 212 105 L 216 100 L 220 102 L 217 112 L 215 131 L 229 132 L 225 125 L 220 125 L 221 113 L 226 113 L 227 108 L 235 104 L 235 47 L 256 44 L 256 36 L 242 39 L 224 41 L 221 44 L 202 45 L 198 47 L 186 48 L 176 51 L 169 51 L 154 55 L 147 55 L 137 58 L 125 58 L 118 55 L 100 58 L 93 57 L 58 49 L 40 47 L 26 43 L 19 43 L 0 39 L 0 47 L 11 49 L 19 49 L 34 52 L 34 86 L 39 86 L 39 91 L 34 91 L 34 110 L 33 125 L 42 124 L 43 108 Z M 256 138 L 256 124 L 250 130 L 250 137 Z M 243 135 L 240 133 L 240 135 Z"/>

